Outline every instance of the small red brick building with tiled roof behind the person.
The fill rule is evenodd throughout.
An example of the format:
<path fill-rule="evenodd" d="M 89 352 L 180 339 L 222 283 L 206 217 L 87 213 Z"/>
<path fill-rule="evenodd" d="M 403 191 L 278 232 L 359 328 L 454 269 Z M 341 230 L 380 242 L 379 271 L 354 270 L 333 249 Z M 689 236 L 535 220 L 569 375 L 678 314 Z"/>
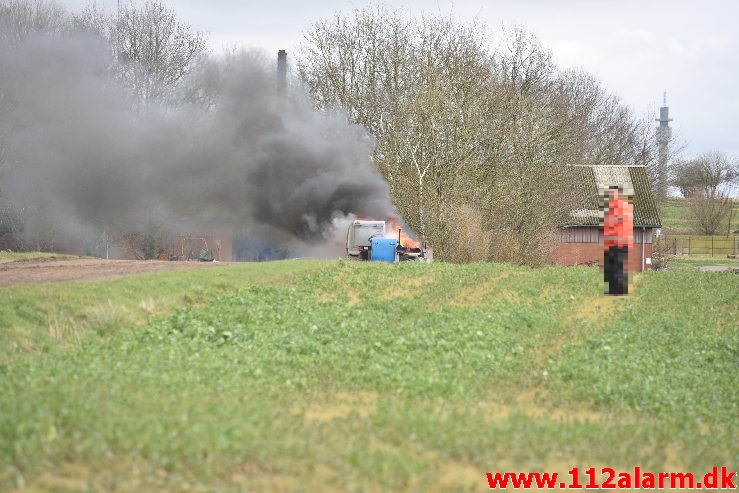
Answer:
<path fill-rule="evenodd" d="M 559 265 L 603 265 L 603 217 L 601 194 L 609 186 L 621 186 L 633 194 L 634 249 L 629 252 L 629 272 L 649 269 L 654 230 L 662 227 L 657 203 L 644 166 L 572 166 L 577 206 L 570 221 L 560 228 L 554 254 Z"/>

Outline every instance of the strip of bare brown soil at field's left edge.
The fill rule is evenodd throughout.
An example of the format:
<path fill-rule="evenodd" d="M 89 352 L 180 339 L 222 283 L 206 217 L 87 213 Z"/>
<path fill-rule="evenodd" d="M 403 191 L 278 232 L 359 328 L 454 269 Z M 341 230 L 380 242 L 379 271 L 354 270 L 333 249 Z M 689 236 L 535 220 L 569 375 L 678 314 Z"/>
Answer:
<path fill-rule="evenodd" d="M 228 262 L 168 262 L 164 260 L 104 260 L 38 258 L 0 260 L 0 286 L 20 283 L 80 281 L 132 276 L 175 269 L 202 269 Z"/>

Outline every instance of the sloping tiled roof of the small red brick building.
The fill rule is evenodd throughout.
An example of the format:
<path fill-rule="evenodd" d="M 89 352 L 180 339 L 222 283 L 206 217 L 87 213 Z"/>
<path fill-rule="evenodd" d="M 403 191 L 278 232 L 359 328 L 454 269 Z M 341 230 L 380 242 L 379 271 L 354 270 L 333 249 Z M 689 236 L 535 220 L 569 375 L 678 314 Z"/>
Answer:
<path fill-rule="evenodd" d="M 624 192 L 633 194 L 634 226 L 662 227 L 657 202 L 644 166 L 602 165 L 568 166 L 575 188 L 576 206 L 570 221 L 564 226 L 597 226 L 600 224 L 600 190 L 620 185 Z"/>

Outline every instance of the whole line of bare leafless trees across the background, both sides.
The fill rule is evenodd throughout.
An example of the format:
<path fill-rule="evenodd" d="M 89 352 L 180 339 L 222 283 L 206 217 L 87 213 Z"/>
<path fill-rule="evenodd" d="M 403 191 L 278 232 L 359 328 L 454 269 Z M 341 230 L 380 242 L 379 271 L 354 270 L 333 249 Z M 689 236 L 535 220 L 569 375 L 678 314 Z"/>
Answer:
<path fill-rule="evenodd" d="M 0 42 L 34 32 L 104 40 L 110 77 L 139 115 L 153 104 L 215 104 L 209 77 L 235 60 L 208 56 L 205 35 L 159 0 L 113 14 L 94 3 L 68 13 L 51 0 L 0 0 Z M 729 200 L 719 187 L 701 188 L 706 156 L 674 160 L 661 176 L 652 118 L 590 74 L 558 67 L 520 27 L 491 33 L 451 15 L 372 6 L 312 24 L 297 60 L 316 107 L 340 108 L 374 137 L 374 163 L 399 214 L 443 260 L 550 262 L 576 201 L 568 164 L 645 165 L 658 196 L 675 184 L 696 203 Z M 0 93 L 3 104 L 12 102 Z M 0 173 L 9 131 L 0 122 Z M 720 158 L 728 166 L 719 182 L 735 183 L 735 161 Z"/>

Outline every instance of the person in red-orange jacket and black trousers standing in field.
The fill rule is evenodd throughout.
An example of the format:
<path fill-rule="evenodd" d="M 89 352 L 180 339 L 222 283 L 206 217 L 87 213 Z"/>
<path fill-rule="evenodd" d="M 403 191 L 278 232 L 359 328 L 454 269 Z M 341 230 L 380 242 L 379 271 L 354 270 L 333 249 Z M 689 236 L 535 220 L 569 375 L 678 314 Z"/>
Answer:
<path fill-rule="evenodd" d="M 607 294 L 629 292 L 629 251 L 634 248 L 634 207 L 621 187 L 612 186 L 603 211 L 603 271 Z"/>

